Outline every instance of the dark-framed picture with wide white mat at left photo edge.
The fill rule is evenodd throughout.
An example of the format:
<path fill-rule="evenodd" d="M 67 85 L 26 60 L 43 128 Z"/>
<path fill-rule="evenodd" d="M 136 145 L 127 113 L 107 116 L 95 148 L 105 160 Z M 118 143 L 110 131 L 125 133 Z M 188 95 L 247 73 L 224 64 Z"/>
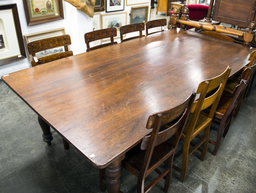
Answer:
<path fill-rule="evenodd" d="M 26 58 L 17 4 L 0 5 L 0 65 Z"/>

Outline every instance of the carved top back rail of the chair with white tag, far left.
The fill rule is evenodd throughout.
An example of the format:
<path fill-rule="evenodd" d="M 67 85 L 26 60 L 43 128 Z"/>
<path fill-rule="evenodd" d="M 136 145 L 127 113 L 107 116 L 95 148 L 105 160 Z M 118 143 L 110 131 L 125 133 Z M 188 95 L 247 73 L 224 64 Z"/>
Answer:
<path fill-rule="evenodd" d="M 60 35 L 51 38 L 45 38 L 28 43 L 28 53 L 35 57 L 35 53 L 64 46 L 65 51 L 68 51 L 68 45 L 71 44 L 69 35 Z"/>

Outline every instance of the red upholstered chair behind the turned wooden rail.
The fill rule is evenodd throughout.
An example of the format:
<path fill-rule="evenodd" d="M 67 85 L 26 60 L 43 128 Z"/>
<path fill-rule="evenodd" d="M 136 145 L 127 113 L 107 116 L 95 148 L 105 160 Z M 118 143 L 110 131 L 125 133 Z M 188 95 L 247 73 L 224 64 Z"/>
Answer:
<path fill-rule="evenodd" d="M 193 21 L 199 21 L 201 19 L 204 19 L 204 17 L 207 15 L 207 12 L 209 9 L 208 5 L 200 5 L 200 4 L 186 5 L 185 7 L 187 7 L 189 10 L 188 18 Z M 170 14 L 172 15 L 173 12 L 170 11 Z M 181 16 L 181 14 L 180 14 L 180 16 Z M 180 27 L 180 24 L 178 27 Z M 194 27 L 192 27 L 192 26 L 186 27 L 186 29 L 191 29 L 191 28 L 194 28 Z"/>

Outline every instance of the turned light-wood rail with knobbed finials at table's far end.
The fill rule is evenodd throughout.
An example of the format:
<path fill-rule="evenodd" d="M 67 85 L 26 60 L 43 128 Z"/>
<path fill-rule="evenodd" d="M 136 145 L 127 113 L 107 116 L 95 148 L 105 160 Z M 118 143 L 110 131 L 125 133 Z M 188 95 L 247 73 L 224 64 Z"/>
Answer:
<path fill-rule="evenodd" d="M 192 21 L 188 18 L 189 10 L 187 7 L 185 7 L 182 11 L 182 16 L 179 19 L 179 8 L 175 7 L 173 9 L 173 14 L 170 19 L 171 27 L 175 28 L 178 27 L 178 24 L 180 24 L 180 27 L 182 29 L 185 29 L 187 25 L 196 27 L 198 29 L 213 31 L 217 33 L 224 33 L 228 35 L 237 35 L 238 37 L 242 37 L 244 40 L 245 45 L 252 45 L 253 43 L 256 45 L 256 37 L 255 37 L 255 29 L 256 29 L 256 23 L 252 21 L 250 25 L 248 26 L 248 30 L 246 32 L 239 31 L 236 29 L 226 28 L 223 26 L 217 26 L 209 23 L 203 23 L 199 21 Z"/>

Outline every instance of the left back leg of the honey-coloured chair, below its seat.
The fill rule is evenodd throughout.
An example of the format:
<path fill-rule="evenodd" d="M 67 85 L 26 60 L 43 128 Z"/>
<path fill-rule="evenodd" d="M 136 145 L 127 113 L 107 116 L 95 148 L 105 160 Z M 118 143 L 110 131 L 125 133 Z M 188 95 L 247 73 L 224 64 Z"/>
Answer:
<path fill-rule="evenodd" d="M 189 152 L 189 140 L 184 140 L 183 150 L 182 150 L 182 166 L 180 173 L 180 181 L 183 182 L 185 180 L 187 171 L 188 171 L 188 152 Z"/>

